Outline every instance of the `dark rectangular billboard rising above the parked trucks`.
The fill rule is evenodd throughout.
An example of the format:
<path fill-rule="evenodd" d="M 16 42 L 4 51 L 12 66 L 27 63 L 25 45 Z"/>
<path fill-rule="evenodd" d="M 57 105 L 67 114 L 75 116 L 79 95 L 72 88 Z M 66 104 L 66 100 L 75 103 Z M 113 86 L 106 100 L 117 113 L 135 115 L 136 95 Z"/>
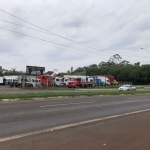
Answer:
<path fill-rule="evenodd" d="M 45 72 L 45 67 L 26 66 L 27 75 L 42 75 Z"/>

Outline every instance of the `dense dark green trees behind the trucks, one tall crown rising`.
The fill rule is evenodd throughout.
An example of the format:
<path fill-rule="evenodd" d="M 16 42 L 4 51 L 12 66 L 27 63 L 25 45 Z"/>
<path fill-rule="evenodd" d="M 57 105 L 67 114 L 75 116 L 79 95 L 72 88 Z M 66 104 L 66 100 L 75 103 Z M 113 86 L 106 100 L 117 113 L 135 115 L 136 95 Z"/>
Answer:
<path fill-rule="evenodd" d="M 131 64 L 119 54 L 113 55 L 107 62 L 79 67 L 70 74 L 112 75 L 117 81 L 132 81 L 133 84 L 150 84 L 150 64 Z"/>

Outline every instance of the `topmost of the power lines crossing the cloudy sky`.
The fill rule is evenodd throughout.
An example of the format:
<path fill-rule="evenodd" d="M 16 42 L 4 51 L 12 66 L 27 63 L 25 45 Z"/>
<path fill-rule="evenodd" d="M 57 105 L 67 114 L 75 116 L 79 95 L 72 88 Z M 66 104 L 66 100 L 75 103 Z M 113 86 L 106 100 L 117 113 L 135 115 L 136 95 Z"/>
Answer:
<path fill-rule="evenodd" d="M 21 18 L 19 18 L 19 17 L 13 15 L 13 14 L 11 14 L 11 13 L 8 13 L 8 12 L 2 10 L 2 9 L 0 9 L 0 11 L 6 13 L 6 14 L 8 14 L 8 15 L 11 15 L 12 17 L 15 17 L 15 18 L 17 18 L 17 19 L 19 19 L 19 20 L 21 20 L 21 21 L 23 21 L 23 22 L 26 22 L 26 23 L 28 23 L 28 24 L 30 24 L 30 25 L 36 27 L 36 28 L 39 28 L 39 29 L 41 29 L 41 30 L 44 30 L 44 31 L 50 33 L 51 35 L 60 37 L 60 38 L 62 38 L 62 39 L 65 39 L 65 40 L 74 42 L 74 43 L 79 44 L 79 45 L 82 45 L 82 46 L 86 46 L 86 47 L 88 47 L 88 48 L 95 49 L 95 50 L 97 50 L 97 51 L 102 51 L 102 52 L 105 52 L 105 53 L 109 53 L 109 54 L 110 54 L 110 52 L 106 52 L 106 51 L 104 51 L 104 50 L 100 50 L 100 49 L 98 49 L 98 48 L 94 48 L 94 47 L 96 47 L 96 46 L 93 47 L 93 46 L 91 46 L 91 45 L 89 45 L 89 44 L 85 44 L 85 43 L 82 43 L 82 42 L 78 42 L 78 41 L 75 41 L 75 40 L 72 40 L 72 39 L 63 37 L 63 36 L 61 36 L 61 35 L 58 35 L 58 34 L 56 34 L 56 33 L 50 32 L 50 31 L 48 31 L 48 30 L 46 30 L 46 29 L 44 29 L 44 28 L 41 28 L 41 27 L 39 27 L 39 26 L 37 26 L 37 25 L 34 25 L 34 24 L 32 24 L 32 23 L 30 23 L 30 22 L 28 22 L 28 21 L 26 21 L 26 20 L 24 20 L 24 19 L 21 19 Z M 111 54 L 114 54 L 114 53 L 111 53 Z M 126 54 L 127 54 L 127 53 L 126 53 Z M 130 54 L 127 54 L 127 55 L 130 55 Z M 128 57 L 132 57 L 132 56 L 128 56 Z M 140 57 L 140 56 L 137 56 L 137 57 Z"/>

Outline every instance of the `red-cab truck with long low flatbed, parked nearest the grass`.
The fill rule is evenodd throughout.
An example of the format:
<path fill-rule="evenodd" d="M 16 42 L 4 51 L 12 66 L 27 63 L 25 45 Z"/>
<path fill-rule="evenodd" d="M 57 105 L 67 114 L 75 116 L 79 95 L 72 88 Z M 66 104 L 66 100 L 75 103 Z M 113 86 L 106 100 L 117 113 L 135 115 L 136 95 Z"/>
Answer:
<path fill-rule="evenodd" d="M 70 78 L 67 87 L 77 88 L 77 87 L 89 87 L 92 88 L 96 83 L 91 79 L 90 81 L 86 79 L 85 81 L 82 78 Z"/>

